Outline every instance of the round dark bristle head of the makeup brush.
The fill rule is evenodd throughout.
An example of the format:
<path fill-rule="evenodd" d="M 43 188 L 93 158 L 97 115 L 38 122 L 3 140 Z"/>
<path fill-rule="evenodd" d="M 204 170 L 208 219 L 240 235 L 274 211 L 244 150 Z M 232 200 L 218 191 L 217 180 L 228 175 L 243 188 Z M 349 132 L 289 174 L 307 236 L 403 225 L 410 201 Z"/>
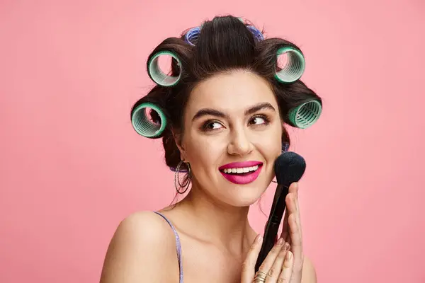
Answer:
<path fill-rule="evenodd" d="M 291 183 L 298 182 L 305 172 L 305 160 L 295 152 L 287 151 L 276 158 L 275 175 L 278 184 L 289 187 Z"/>

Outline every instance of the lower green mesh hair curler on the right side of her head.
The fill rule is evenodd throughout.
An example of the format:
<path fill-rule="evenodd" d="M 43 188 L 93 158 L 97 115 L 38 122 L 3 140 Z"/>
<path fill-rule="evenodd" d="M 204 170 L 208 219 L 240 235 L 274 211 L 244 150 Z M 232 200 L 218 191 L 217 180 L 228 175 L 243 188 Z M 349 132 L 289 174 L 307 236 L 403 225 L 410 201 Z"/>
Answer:
<path fill-rule="evenodd" d="M 322 114 L 322 104 L 318 100 L 310 100 L 289 110 L 288 118 L 293 126 L 306 129 L 313 125 Z"/>

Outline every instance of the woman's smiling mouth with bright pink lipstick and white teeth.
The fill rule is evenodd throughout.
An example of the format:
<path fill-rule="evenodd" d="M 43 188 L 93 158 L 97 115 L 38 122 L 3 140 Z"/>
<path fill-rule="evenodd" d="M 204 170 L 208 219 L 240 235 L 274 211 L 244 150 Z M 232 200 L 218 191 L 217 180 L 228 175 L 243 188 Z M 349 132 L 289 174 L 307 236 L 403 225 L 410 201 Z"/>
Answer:
<path fill-rule="evenodd" d="M 244 185 L 254 182 L 260 175 L 263 163 L 260 161 L 233 162 L 220 166 L 218 170 L 227 180 Z"/>

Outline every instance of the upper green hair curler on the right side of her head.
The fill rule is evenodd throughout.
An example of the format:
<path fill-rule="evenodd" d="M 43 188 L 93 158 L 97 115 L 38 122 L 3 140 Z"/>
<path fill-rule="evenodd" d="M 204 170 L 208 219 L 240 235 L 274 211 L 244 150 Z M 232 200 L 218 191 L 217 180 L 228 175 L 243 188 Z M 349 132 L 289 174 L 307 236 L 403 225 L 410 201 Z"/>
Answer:
<path fill-rule="evenodd" d="M 280 47 L 278 52 L 276 52 L 276 59 L 280 54 L 285 53 L 288 53 L 288 64 L 283 67 L 283 69 L 276 72 L 275 78 L 280 81 L 280 83 L 292 83 L 300 79 L 304 73 L 305 59 L 300 50 L 289 46 Z"/>

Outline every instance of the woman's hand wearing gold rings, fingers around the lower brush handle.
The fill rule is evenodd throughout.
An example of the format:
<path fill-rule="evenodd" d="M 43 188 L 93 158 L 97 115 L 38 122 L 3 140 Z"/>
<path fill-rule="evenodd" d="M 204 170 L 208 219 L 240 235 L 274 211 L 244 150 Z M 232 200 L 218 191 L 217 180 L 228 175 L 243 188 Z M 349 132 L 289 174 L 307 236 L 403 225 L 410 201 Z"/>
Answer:
<path fill-rule="evenodd" d="M 289 243 L 280 238 L 270 250 L 266 259 L 255 273 L 255 264 L 261 250 L 263 238 L 256 236 L 254 243 L 249 249 L 246 260 L 242 265 L 241 283 L 262 282 L 281 283 L 290 282 L 293 273 L 293 253 L 289 250 Z"/>

